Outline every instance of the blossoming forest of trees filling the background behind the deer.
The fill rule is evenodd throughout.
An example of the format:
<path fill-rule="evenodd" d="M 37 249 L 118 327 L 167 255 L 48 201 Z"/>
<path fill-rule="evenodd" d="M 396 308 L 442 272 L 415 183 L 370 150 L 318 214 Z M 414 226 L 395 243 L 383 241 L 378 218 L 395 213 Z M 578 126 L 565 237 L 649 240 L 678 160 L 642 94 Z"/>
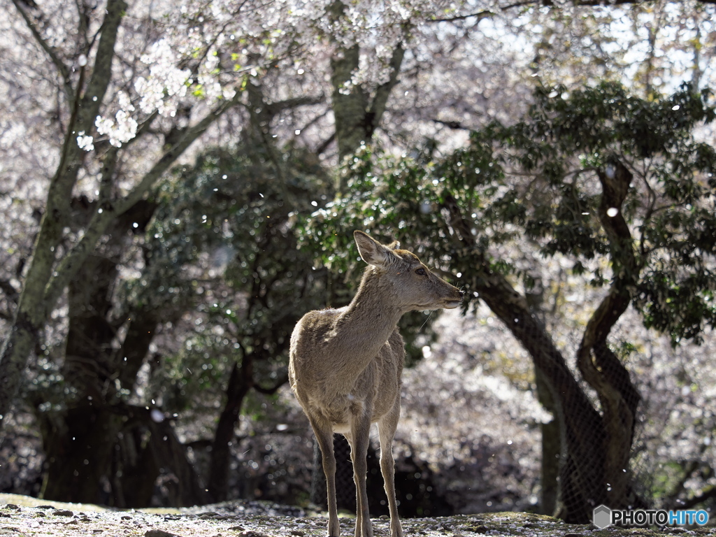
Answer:
<path fill-rule="evenodd" d="M 713 1 L 0 6 L 1 491 L 320 503 L 362 229 L 468 297 L 401 321 L 402 516 L 716 507 Z"/>

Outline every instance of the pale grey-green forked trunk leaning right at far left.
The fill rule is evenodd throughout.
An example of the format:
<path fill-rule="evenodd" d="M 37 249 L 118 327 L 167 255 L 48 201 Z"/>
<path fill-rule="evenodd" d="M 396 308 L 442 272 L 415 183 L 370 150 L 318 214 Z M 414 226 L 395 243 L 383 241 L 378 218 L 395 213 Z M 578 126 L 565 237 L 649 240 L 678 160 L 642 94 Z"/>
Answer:
<path fill-rule="evenodd" d="M 34 343 L 39 339 L 39 334 L 44 328 L 49 313 L 87 256 L 95 250 L 97 241 L 105 234 L 107 227 L 117 216 L 121 216 L 140 203 L 147 191 L 189 145 L 200 137 L 213 122 L 218 120 L 226 110 L 236 105 L 241 97 L 241 92 L 236 92 L 233 99 L 223 100 L 195 125 L 186 128 L 179 139 L 142 176 L 135 188 L 123 198 L 110 199 L 119 151 L 115 147 L 110 147 L 105 153 L 100 179 L 99 204 L 102 211 L 95 211 L 87 226 L 84 227 L 82 238 L 62 258 L 56 259 L 63 230 L 72 224 L 69 221 L 72 189 L 77 181 L 77 173 L 84 158 L 81 150 L 77 147 L 76 136 L 72 132 L 77 125 L 92 125 L 94 123 L 107 85 L 110 83 L 117 29 L 126 8 L 127 4 L 122 0 L 112 1 L 107 5 L 92 78 L 84 91 L 84 97 L 82 99 L 77 97 L 74 103 L 72 120 L 67 127 L 68 133 L 62 147 L 57 173 L 50 181 L 47 207 L 20 294 L 16 317 L 9 337 L 6 338 L 2 349 L 0 349 L 0 431 L 4 423 L 4 415 L 9 412 L 17 393 L 29 354 Z M 82 90 L 83 74 L 84 69 L 80 76 L 78 93 Z M 150 125 L 153 117 L 147 119 L 144 127 Z M 77 128 L 77 130 L 82 129 Z M 89 127 L 87 127 L 87 132 L 89 132 Z"/>

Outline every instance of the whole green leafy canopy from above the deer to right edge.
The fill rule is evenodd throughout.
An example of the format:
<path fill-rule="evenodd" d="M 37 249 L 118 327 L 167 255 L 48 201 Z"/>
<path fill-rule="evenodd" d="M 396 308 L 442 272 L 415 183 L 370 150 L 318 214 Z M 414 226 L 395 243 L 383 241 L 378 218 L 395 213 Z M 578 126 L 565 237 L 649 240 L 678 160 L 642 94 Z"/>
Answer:
<path fill-rule="evenodd" d="M 526 289 L 534 284 L 535 274 L 495 254 L 516 238 L 543 256 L 571 257 L 574 273 L 596 286 L 612 282 L 629 254 L 636 264 L 630 293 L 644 324 L 674 344 L 698 342 L 716 324 L 716 151 L 695 136 L 715 120 L 710 98 L 688 85 L 654 100 L 611 83 L 571 94 L 543 87 L 521 122 L 488 125 L 445 157 L 363 147 L 343 172 L 349 193 L 306 221 L 304 241 L 320 245 L 326 265 L 349 271 L 350 231 L 395 236 L 458 276 L 465 307 L 477 291 L 460 274 L 479 268 L 520 279 Z M 616 165 L 632 175 L 619 208 L 627 251 L 604 228 L 606 208 L 600 213 L 598 173 L 614 175 Z M 453 202 L 478 248 L 457 240 Z"/>

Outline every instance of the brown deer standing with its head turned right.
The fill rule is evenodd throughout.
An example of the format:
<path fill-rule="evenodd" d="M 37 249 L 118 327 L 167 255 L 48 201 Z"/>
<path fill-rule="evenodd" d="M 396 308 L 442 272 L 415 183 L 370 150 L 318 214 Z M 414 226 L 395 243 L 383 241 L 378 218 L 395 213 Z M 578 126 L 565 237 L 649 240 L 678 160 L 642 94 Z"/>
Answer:
<path fill-rule="evenodd" d="M 417 256 L 354 231 L 367 263 L 348 306 L 309 311 L 291 334 L 289 382 L 323 455 L 328 536 L 339 537 L 333 435 L 346 437 L 356 484 L 355 537 L 372 537 L 366 490 L 370 428 L 378 424 L 380 470 L 390 512 L 390 536 L 402 537 L 395 500 L 392 442 L 400 419 L 405 344 L 397 322 L 407 311 L 453 309 L 463 291 L 440 279 Z"/>

